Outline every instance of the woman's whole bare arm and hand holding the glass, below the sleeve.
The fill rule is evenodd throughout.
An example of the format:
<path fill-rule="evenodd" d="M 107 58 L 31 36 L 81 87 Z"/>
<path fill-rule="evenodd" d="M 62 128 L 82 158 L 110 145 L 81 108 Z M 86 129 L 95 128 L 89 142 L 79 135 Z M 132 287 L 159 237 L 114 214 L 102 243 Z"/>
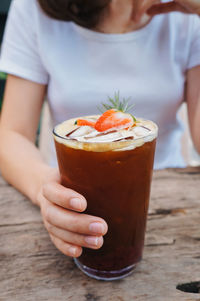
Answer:
<path fill-rule="evenodd" d="M 102 246 L 107 224 L 80 213 L 87 206 L 85 198 L 60 184 L 58 170 L 44 163 L 34 145 L 45 93 L 45 85 L 8 76 L 0 125 L 1 170 L 9 183 L 40 206 L 56 247 L 77 257 L 82 246 Z"/>

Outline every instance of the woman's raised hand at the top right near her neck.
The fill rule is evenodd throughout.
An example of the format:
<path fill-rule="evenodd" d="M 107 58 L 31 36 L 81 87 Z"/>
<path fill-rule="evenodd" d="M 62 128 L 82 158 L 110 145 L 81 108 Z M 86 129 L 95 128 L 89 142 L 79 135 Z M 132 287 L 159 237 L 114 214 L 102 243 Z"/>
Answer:
<path fill-rule="evenodd" d="M 144 14 L 151 16 L 180 11 L 200 15 L 200 0 L 174 0 L 160 3 L 159 0 L 135 0 L 133 18 L 139 22 Z"/>

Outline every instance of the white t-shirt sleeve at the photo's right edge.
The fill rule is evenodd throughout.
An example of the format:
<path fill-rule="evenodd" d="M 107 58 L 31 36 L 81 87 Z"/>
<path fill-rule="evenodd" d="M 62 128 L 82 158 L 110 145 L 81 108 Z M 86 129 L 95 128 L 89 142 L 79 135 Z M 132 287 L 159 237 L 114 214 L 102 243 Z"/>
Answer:
<path fill-rule="evenodd" d="M 200 65 L 200 17 L 193 16 L 192 39 L 187 69 Z"/>

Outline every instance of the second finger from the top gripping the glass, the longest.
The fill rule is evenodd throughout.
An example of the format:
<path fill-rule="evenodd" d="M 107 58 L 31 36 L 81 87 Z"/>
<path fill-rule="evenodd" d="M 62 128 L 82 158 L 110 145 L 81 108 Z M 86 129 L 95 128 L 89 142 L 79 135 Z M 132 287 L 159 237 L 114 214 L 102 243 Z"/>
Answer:
<path fill-rule="evenodd" d="M 106 222 L 100 217 L 76 213 L 50 202 L 42 215 L 48 223 L 74 233 L 102 236 L 108 230 Z"/>

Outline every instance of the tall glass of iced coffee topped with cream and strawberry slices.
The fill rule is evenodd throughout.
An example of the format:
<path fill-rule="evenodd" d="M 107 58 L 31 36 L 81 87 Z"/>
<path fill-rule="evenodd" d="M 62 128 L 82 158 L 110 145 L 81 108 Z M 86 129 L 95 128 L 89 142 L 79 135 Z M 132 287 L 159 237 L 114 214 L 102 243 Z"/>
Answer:
<path fill-rule="evenodd" d="M 103 246 L 85 248 L 75 260 L 84 273 L 103 280 L 131 273 L 144 246 L 157 126 L 123 114 L 110 109 L 54 129 L 62 184 L 86 198 L 85 213 L 108 224 Z"/>

